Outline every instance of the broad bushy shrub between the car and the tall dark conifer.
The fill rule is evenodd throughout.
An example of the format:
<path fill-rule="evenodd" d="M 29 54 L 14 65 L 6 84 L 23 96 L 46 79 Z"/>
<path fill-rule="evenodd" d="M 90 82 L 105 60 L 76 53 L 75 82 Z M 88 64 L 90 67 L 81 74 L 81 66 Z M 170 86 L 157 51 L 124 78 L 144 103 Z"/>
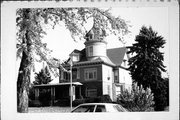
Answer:
<path fill-rule="evenodd" d="M 144 90 L 142 85 L 139 87 L 137 83 L 134 83 L 131 92 L 125 90 L 118 96 L 117 103 L 129 111 L 153 111 L 153 99 L 150 88 Z"/>

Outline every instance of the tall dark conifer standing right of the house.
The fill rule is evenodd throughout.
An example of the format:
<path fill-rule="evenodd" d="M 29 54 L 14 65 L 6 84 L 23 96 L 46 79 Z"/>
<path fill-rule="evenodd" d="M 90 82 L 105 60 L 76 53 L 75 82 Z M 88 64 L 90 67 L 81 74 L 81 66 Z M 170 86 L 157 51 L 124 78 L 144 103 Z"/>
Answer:
<path fill-rule="evenodd" d="M 155 110 L 163 110 L 167 104 L 165 97 L 166 90 L 164 79 L 161 72 L 165 72 L 163 65 L 163 48 L 165 40 L 162 36 L 158 36 L 151 27 L 143 26 L 139 35 L 136 36 L 136 43 L 129 47 L 129 52 L 134 54 L 129 59 L 129 70 L 132 79 L 143 85 L 144 88 L 150 87 L 154 93 Z"/>

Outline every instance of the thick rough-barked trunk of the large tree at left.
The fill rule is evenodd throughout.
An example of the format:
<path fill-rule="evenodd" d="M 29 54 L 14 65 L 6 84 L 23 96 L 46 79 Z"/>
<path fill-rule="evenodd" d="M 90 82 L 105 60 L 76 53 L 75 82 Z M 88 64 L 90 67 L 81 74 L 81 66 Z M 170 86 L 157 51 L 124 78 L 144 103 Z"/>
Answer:
<path fill-rule="evenodd" d="M 22 53 L 17 80 L 17 111 L 22 113 L 28 112 L 28 92 L 31 71 L 31 41 L 28 36 L 28 31 L 26 32 L 25 38 L 27 50 Z M 25 40 L 23 40 L 23 43 L 25 43 Z"/>

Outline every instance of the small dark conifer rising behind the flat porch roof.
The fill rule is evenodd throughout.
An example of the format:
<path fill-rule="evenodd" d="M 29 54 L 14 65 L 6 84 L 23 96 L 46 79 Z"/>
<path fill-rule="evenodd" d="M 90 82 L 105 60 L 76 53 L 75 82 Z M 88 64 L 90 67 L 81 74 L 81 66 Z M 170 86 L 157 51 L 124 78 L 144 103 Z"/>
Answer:
<path fill-rule="evenodd" d="M 50 72 L 48 70 L 48 67 L 41 69 L 39 73 L 35 73 L 35 81 L 33 81 L 34 85 L 41 85 L 41 84 L 48 84 L 52 81 Z"/>

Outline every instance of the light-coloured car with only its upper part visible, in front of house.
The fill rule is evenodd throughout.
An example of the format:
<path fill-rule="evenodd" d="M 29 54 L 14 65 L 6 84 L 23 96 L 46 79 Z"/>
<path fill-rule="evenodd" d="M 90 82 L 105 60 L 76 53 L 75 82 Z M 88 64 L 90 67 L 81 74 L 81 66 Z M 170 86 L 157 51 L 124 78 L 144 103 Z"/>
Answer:
<path fill-rule="evenodd" d="M 84 103 L 75 107 L 71 112 L 128 112 L 128 110 L 114 103 Z"/>

